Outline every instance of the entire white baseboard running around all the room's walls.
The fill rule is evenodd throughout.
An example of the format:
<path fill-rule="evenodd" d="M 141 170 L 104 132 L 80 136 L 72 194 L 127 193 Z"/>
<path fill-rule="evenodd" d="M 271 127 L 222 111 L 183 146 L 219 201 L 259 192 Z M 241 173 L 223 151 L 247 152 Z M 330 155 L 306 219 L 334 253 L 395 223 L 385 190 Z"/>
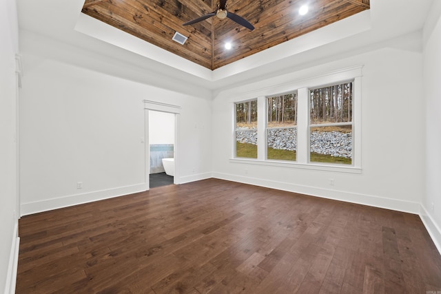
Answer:
<path fill-rule="evenodd" d="M 290 191 L 294 193 L 302 193 L 309 196 L 317 196 L 320 198 L 340 200 L 340 201 L 351 202 L 356 204 L 369 205 L 371 207 L 380 207 L 384 209 L 391 209 L 395 211 L 418 214 L 424 226 L 426 227 L 427 231 L 429 232 L 429 235 L 431 235 L 433 243 L 435 244 L 436 248 L 441 254 L 441 229 L 433 221 L 433 218 L 430 216 L 430 214 L 427 213 L 427 209 L 418 202 L 410 202 L 410 201 L 404 201 L 398 199 L 370 196 L 360 193 L 350 193 L 346 191 L 338 191 L 332 189 L 322 189 L 322 188 L 305 186 L 305 185 L 295 185 L 287 182 L 277 182 L 272 180 L 236 176 L 233 174 L 223 174 L 223 173 L 204 173 L 204 174 L 195 174 L 191 176 L 184 176 L 178 178 L 176 180 L 176 184 L 185 184 L 187 182 L 205 180 L 207 178 L 218 178 L 222 180 L 230 180 L 232 182 L 243 182 L 249 185 L 267 187 L 267 188 L 278 189 L 283 191 Z M 138 193 L 145 190 L 146 190 L 145 183 L 142 183 L 127 187 L 119 187 L 116 189 L 94 191 L 90 193 L 76 194 L 61 198 L 42 200 L 38 202 L 23 203 L 21 204 L 21 216 L 26 216 L 32 213 L 38 213 L 41 211 L 59 209 L 62 207 L 69 207 L 76 204 L 93 202 L 107 198 L 114 198 L 131 193 Z M 11 281 L 15 283 L 15 277 L 17 276 L 17 262 L 18 262 L 18 251 L 19 251 L 19 238 L 17 237 L 17 230 L 18 230 L 18 222 L 14 231 L 15 233 L 14 244 L 12 244 L 11 258 L 9 264 L 10 267 L 15 266 L 15 270 L 8 271 L 9 284 L 6 285 L 7 288 L 9 287 L 8 289 L 10 289 L 11 286 L 15 288 L 15 284 L 12 285 Z M 12 272 L 14 276 L 9 277 L 9 273 Z"/>

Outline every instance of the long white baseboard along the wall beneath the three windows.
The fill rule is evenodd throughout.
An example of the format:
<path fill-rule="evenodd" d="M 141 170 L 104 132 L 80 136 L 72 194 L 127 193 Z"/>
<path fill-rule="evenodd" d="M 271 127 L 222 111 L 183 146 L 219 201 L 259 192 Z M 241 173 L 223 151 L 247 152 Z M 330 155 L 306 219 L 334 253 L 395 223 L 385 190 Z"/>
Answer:
<path fill-rule="evenodd" d="M 291 184 L 289 182 L 277 182 L 274 180 L 265 180 L 261 178 L 236 176 L 232 174 L 213 173 L 213 177 L 223 180 L 231 180 L 233 182 L 243 182 L 245 184 L 250 184 L 260 187 L 267 187 L 271 189 L 301 193 L 309 196 L 317 196 L 320 198 L 340 200 L 340 201 L 351 202 L 356 204 L 364 204 L 364 205 L 369 205 L 371 207 L 380 207 L 384 209 L 391 209 L 395 211 L 402 211 L 402 212 L 414 213 L 414 214 L 420 213 L 420 203 L 418 202 L 371 196 L 360 193 L 351 193 L 347 191 L 323 189 L 323 188 L 311 187 L 305 185 L 296 185 L 296 184 Z"/>

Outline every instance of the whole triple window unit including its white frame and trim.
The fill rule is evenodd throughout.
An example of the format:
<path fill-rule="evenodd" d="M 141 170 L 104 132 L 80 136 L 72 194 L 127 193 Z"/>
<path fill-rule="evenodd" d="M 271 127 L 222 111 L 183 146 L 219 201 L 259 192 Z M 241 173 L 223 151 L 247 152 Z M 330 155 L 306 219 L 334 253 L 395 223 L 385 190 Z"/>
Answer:
<path fill-rule="evenodd" d="M 362 66 L 289 78 L 234 103 L 231 161 L 360 174 Z"/>

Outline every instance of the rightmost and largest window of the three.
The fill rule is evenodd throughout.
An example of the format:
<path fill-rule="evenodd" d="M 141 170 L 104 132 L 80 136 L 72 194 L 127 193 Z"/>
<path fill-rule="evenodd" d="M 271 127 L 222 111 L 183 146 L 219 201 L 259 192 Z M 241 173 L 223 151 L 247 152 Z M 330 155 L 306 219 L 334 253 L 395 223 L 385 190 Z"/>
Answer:
<path fill-rule="evenodd" d="M 309 160 L 352 164 L 352 82 L 309 91 Z"/>

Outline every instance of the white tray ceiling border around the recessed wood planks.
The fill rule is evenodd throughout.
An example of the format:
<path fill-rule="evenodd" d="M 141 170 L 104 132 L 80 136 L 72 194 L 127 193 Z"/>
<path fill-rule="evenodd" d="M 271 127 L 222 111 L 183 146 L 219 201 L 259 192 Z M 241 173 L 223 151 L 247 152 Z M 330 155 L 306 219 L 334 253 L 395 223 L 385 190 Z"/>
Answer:
<path fill-rule="evenodd" d="M 405 5 L 403 4 L 405 3 Z M 371 0 L 371 9 L 235 63 L 207 70 L 81 14 L 84 0 L 17 0 L 19 27 L 206 90 L 256 81 L 337 52 L 422 30 L 433 0 Z"/>

